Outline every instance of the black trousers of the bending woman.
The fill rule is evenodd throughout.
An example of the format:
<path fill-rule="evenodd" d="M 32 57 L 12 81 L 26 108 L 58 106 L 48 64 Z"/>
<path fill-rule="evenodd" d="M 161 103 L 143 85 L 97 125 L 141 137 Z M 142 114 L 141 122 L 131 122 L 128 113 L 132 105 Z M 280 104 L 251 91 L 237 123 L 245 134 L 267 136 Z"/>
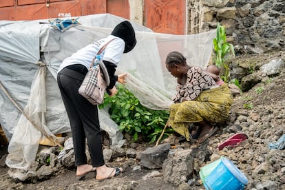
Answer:
<path fill-rule="evenodd" d="M 75 71 L 66 68 L 63 69 L 63 72 L 59 72 L 57 75 L 57 83 L 61 90 L 61 97 L 63 98 L 67 116 L 70 119 L 75 165 L 87 164 L 87 157 L 85 154 L 85 140 L 87 138 L 92 166 L 100 167 L 104 165 L 105 162 L 101 144 L 98 108 L 78 94 L 78 88 L 80 87 L 82 80 L 71 77 L 74 76 L 74 72 Z M 80 73 L 78 72 L 78 74 Z"/>

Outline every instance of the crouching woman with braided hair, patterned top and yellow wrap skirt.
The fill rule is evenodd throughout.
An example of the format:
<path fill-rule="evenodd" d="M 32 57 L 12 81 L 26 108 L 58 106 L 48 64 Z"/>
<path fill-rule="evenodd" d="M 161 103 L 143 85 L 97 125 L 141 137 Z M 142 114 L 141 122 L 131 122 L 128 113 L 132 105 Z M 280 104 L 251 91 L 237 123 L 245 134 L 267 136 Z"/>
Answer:
<path fill-rule="evenodd" d="M 180 52 L 170 52 L 165 65 L 171 75 L 178 78 L 167 125 L 188 141 L 191 137 L 189 125 L 197 125 L 198 134 L 195 135 L 202 143 L 217 130 L 214 123 L 222 123 L 229 117 L 233 103 L 231 91 L 226 84 L 216 85 L 201 67 L 187 65 Z"/>

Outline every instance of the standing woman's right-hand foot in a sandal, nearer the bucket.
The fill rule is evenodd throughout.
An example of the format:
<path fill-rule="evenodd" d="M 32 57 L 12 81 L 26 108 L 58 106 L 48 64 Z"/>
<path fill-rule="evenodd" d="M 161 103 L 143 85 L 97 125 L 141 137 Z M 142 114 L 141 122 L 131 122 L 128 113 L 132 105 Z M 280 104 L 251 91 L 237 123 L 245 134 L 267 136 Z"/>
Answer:
<path fill-rule="evenodd" d="M 113 167 L 107 167 L 106 165 L 103 165 L 101 167 L 96 168 L 97 174 L 96 174 L 96 180 L 104 180 L 107 178 L 112 178 L 118 176 L 119 173 L 123 172 L 124 170 L 122 168 L 113 168 Z"/>

